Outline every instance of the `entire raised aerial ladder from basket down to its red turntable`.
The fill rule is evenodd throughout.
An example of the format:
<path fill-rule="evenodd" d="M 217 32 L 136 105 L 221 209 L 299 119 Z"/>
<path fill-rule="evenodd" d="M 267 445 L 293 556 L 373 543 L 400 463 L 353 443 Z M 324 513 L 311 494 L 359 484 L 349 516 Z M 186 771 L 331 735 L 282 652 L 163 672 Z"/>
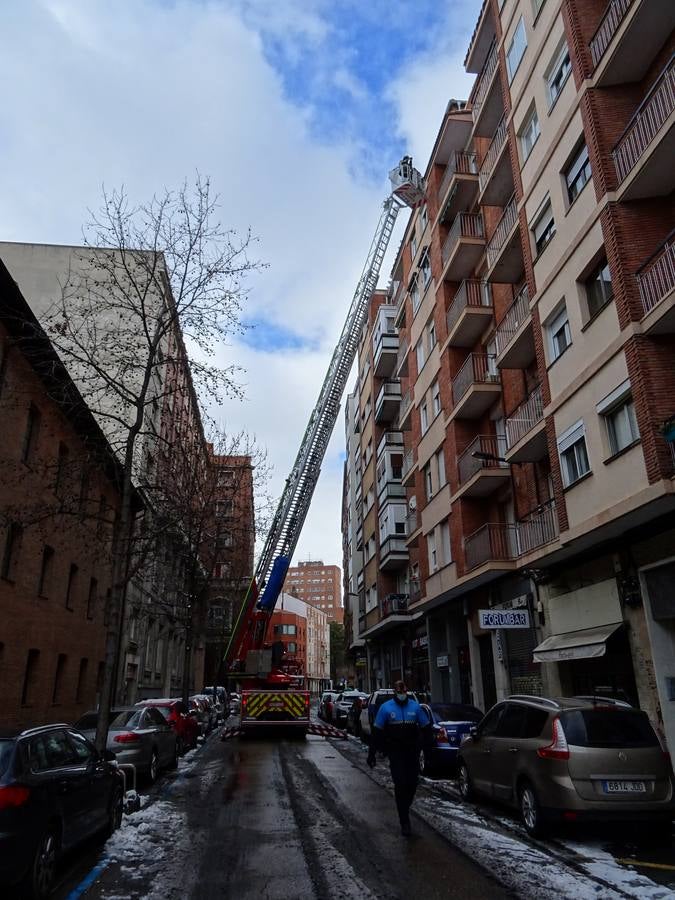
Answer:
<path fill-rule="evenodd" d="M 270 665 L 269 655 L 266 657 L 263 654 L 267 625 L 281 593 L 286 572 L 307 517 L 326 448 L 340 411 L 347 379 L 356 357 L 370 297 L 377 287 L 382 261 L 389 246 L 396 218 L 404 206 L 414 208 L 424 196 L 422 176 L 413 168 L 411 157 L 403 157 L 399 165 L 389 173 L 389 178 L 392 184 L 391 194 L 384 201 L 363 272 L 328 366 L 319 398 L 310 416 L 291 474 L 286 479 L 255 575 L 244 597 L 225 650 L 224 662 L 227 670 L 245 672 L 246 676 L 259 679 L 264 678 L 267 685 L 272 688 L 292 686 L 294 676 L 292 672 L 284 671 L 283 666 Z"/>

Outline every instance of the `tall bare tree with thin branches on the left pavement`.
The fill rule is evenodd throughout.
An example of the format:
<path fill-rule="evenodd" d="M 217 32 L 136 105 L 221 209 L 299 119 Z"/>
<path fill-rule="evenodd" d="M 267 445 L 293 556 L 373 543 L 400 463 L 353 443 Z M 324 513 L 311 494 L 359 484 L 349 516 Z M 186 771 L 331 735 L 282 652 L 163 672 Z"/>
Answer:
<path fill-rule="evenodd" d="M 104 193 L 45 320 L 123 471 L 112 529 L 99 749 L 127 586 L 156 546 L 155 511 L 166 488 L 160 461 L 184 442 L 198 452 L 197 394 L 219 401 L 241 393 L 236 368 L 219 366 L 216 351 L 240 328 L 244 282 L 261 264 L 249 258 L 250 234 L 223 230 L 216 209 L 208 180 L 199 176 L 141 205 L 124 191 Z M 169 427 L 179 420 L 187 432 Z"/>

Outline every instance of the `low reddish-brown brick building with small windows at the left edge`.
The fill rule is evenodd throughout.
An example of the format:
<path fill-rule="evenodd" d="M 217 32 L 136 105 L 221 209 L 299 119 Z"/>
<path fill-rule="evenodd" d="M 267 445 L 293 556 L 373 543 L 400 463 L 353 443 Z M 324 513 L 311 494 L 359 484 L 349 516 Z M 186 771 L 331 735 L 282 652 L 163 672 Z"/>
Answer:
<path fill-rule="evenodd" d="M 0 262 L 0 709 L 6 726 L 96 705 L 120 473 Z"/>

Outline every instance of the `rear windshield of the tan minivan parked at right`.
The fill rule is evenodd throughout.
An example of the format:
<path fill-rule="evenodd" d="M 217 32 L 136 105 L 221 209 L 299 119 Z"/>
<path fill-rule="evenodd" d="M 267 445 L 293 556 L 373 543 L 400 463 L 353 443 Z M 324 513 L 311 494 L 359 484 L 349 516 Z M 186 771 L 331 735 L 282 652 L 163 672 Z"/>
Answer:
<path fill-rule="evenodd" d="M 637 709 L 574 709 L 560 716 L 574 747 L 657 747 L 659 740 L 645 713 Z"/>

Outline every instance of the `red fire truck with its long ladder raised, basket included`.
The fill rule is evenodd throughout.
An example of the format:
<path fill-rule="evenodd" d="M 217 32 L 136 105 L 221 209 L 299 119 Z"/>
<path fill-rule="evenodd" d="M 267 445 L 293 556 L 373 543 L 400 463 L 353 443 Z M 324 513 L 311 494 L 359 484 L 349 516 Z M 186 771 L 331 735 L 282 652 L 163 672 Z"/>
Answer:
<path fill-rule="evenodd" d="M 284 658 L 281 642 L 266 645 L 265 635 L 319 479 L 396 218 L 403 207 L 415 208 L 424 197 L 423 179 L 411 157 L 403 157 L 389 179 L 391 193 L 383 203 L 342 333 L 225 650 L 228 679 L 242 688 L 237 731 L 243 733 L 279 726 L 300 734 L 311 730 L 305 673 L 297 661 Z"/>

